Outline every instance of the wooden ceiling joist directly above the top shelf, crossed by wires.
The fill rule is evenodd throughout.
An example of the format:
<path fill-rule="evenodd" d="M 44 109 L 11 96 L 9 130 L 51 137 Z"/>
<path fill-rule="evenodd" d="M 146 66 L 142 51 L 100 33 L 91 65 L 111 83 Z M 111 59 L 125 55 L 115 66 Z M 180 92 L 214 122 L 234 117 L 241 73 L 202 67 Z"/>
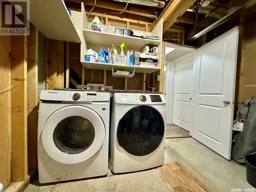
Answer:
<path fill-rule="evenodd" d="M 67 0 L 67 2 L 72 3 L 84 3 L 84 5 L 94 6 L 95 1 L 94 0 Z M 104 1 L 104 0 L 97 0 L 96 7 L 104 8 L 104 9 L 110 9 L 114 11 L 122 11 L 124 9 L 125 4 L 120 4 L 118 2 L 114 1 Z M 154 9 L 143 9 L 138 5 L 129 5 L 129 9 L 124 11 L 125 13 L 135 14 L 135 15 L 141 15 L 145 17 L 155 18 Z"/>

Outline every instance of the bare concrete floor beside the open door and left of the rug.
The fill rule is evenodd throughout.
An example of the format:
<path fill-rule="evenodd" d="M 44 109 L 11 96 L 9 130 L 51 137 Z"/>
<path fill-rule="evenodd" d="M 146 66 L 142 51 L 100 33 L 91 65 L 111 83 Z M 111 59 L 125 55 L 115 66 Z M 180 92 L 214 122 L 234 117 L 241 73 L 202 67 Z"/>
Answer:
<path fill-rule="evenodd" d="M 166 139 L 165 163 L 180 161 L 216 192 L 252 188 L 245 166 L 227 161 L 193 138 Z M 40 185 L 35 179 L 25 192 L 48 192 L 54 185 Z M 256 190 L 255 190 L 256 191 Z"/>

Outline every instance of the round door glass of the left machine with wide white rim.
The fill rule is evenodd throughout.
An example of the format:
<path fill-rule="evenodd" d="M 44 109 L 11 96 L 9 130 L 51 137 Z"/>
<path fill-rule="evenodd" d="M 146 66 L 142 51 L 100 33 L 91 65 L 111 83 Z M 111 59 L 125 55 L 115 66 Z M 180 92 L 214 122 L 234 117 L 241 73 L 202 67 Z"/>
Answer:
<path fill-rule="evenodd" d="M 53 141 L 63 153 L 81 153 L 93 143 L 95 130 L 93 124 L 81 116 L 62 119 L 53 132 Z"/>

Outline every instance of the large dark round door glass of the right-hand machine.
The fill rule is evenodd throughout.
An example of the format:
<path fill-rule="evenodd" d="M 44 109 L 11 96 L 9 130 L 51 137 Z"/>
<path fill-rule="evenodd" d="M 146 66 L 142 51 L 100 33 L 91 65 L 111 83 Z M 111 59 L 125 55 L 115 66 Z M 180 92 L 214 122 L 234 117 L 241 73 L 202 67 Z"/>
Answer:
<path fill-rule="evenodd" d="M 151 106 L 136 106 L 118 123 L 117 140 L 124 150 L 135 156 L 148 155 L 156 150 L 164 136 L 161 114 Z"/>

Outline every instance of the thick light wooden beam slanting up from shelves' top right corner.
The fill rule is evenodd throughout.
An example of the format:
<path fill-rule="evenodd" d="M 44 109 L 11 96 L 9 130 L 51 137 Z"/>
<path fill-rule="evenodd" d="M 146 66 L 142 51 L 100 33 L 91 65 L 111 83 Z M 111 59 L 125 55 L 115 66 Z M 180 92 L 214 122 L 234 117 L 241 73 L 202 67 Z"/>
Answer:
<path fill-rule="evenodd" d="M 163 13 L 160 15 L 158 20 L 155 20 L 153 26 L 156 26 L 159 20 L 163 18 L 163 33 L 167 31 L 177 20 L 178 18 L 191 6 L 195 3 L 196 0 L 173 0 L 171 1 Z"/>

